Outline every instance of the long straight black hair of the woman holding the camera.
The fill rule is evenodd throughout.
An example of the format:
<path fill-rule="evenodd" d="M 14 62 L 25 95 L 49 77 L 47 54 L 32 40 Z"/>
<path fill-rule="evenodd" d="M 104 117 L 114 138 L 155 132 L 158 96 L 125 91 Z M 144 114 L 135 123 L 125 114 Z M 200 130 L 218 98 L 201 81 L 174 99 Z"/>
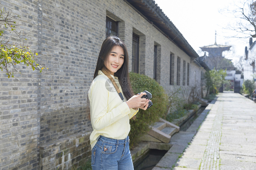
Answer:
<path fill-rule="evenodd" d="M 123 90 L 123 94 L 127 100 L 129 100 L 134 95 L 129 78 L 129 56 L 124 42 L 117 36 L 108 36 L 103 41 L 93 75 L 93 80 L 97 77 L 99 70 L 105 69 L 106 71 L 110 71 L 107 69 L 104 63 L 108 61 L 109 54 L 115 46 L 119 46 L 124 50 L 124 63 L 121 68 L 114 73 L 114 76 L 118 77 L 120 86 Z M 90 109 L 88 110 L 89 106 L 89 100 L 87 99 L 87 112 L 90 111 Z M 90 117 L 90 114 L 88 116 Z"/>

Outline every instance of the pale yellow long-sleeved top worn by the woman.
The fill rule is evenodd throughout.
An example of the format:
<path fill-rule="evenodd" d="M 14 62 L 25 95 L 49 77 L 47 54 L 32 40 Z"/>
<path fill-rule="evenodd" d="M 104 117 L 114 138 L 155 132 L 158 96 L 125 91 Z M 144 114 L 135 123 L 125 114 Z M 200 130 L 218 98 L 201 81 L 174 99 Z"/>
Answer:
<path fill-rule="evenodd" d="M 118 78 L 111 76 L 122 92 Z M 91 147 L 96 144 L 99 135 L 112 139 L 125 139 L 130 131 L 129 119 L 136 115 L 138 110 L 130 109 L 126 102 L 121 100 L 113 83 L 102 71 L 98 72 L 98 76 L 90 85 L 88 97 L 93 127 L 90 135 Z M 127 101 L 125 96 L 124 101 Z"/>

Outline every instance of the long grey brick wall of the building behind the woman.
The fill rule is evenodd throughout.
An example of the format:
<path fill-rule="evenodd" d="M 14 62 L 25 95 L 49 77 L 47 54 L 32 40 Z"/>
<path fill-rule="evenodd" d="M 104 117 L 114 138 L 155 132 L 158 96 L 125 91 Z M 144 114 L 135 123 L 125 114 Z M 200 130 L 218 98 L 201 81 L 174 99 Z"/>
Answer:
<path fill-rule="evenodd" d="M 139 70 L 152 78 L 157 42 L 157 81 L 166 93 L 174 87 L 170 72 L 177 83 L 177 56 L 191 63 L 184 51 L 126 1 L 0 0 L 0 7 L 14 8 L 11 12 L 21 17 L 32 50 L 51 54 L 41 57 L 48 74 L 21 66 L 21 72 L 35 80 L 20 74 L 8 79 L 0 72 L 0 170 L 68 169 L 90 158 L 86 97 L 105 39 L 106 16 L 119 21 L 119 37 L 129 55 L 132 33 L 140 36 Z M 196 69 L 191 66 L 191 77 Z"/>

